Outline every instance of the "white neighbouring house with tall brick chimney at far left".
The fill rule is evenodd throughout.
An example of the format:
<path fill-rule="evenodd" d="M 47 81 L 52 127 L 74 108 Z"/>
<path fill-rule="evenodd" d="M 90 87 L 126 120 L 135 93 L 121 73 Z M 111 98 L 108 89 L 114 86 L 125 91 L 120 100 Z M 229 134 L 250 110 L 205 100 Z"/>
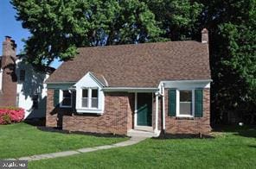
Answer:
<path fill-rule="evenodd" d="M 16 55 L 15 41 L 6 36 L 0 57 L 0 106 L 23 108 L 26 119 L 45 117 L 47 88 L 43 83 L 54 68 L 37 71 L 25 57 Z"/>

